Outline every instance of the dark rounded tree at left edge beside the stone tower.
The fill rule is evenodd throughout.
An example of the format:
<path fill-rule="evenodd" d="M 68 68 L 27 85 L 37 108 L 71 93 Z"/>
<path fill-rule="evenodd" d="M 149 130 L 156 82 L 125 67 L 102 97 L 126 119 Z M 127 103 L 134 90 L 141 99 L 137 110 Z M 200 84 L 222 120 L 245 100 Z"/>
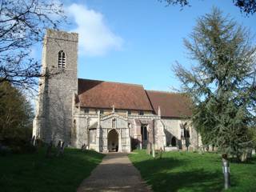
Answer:
<path fill-rule="evenodd" d="M 10 82 L 0 84 L 0 94 L 0 143 L 30 139 L 34 117 L 30 102 Z"/>

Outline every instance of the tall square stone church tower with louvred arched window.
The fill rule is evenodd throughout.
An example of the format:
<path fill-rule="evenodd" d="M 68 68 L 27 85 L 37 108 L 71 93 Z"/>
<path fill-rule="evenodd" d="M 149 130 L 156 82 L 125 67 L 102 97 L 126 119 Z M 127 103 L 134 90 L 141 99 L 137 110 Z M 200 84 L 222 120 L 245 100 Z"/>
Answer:
<path fill-rule="evenodd" d="M 47 30 L 33 135 L 70 144 L 74 95 L 78 94 L 78 34 Z M 50 74 L 49 76 L 47 76 Z"/>

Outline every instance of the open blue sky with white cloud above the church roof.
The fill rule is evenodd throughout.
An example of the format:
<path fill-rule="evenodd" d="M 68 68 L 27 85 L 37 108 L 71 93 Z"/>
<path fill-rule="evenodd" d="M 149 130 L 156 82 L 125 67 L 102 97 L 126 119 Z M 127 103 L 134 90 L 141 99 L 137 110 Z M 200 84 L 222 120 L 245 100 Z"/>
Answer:
<path fill-rule="evenodd" d="M 142 84 L 147 90 L 178 88 L 171 66 L 175 61 L 191 66 L 183 38 L 213 6 L 256 34 L 256 14 L 247 18 L 232 0 L 194 0 L 183 10 L 165 5 L 158 0 L 64 1 L 71 25 L 62 30 L 79 33 L 78 78 Z"/>

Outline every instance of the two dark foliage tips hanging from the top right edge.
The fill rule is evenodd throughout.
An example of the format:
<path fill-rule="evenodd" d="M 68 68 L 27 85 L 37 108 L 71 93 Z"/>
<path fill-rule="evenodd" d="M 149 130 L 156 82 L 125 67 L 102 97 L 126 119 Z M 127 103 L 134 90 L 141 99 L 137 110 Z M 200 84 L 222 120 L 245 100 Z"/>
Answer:
<path fill-rule="evenodd" d="M 159 0 L 162 2 L 163 0 Z M 179 5 L 181 7 L 190 6 L 190 0 L 164 0 L 167 5 Z M 234 6 L 238 6 L 241 12 L 254 14 L 256 12 L 256 1 L 254 0 L 232 0 Z"/>

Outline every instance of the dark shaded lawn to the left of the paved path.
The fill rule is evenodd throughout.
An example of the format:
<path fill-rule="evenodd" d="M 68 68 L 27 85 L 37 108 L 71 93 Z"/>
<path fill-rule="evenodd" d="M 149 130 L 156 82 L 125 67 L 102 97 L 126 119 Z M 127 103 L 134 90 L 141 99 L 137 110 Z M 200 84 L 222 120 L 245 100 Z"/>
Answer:
<path fill-rule="evenodd" d="M 76 191 L 103 156 L 91 150 L 68 148 L 59 158 L 46 158 L 45 149 L 36 154 L 0 156 L 0 191 Z"/>

